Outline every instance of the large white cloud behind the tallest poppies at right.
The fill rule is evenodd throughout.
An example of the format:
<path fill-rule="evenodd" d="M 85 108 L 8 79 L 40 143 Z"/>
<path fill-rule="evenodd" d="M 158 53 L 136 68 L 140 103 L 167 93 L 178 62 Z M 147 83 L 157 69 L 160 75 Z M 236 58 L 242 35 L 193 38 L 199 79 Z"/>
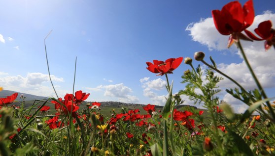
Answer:
<path fill-rule="evenodd" d="M 262 15 L 257 15 L 254 19 L 253 24 L 247 29 L 251 32 L 254 32 L 254 29 L 259 25 L 259 23 L 271 20 L 275 24 L 275 14 L 271 11 L 266 11 Z M 201 20 L 198 23 L 192 23 L 187 26 L 187 31 L 190 31 L 190 35 L 194 41 L 197 41 L 203 45 L 206 45 L 208 49 L 211 50 L 227 50 L 227 42 L 229 36 L 221 35 L 215 28 L 213 19 L 207 18 Z M 268 52 L 265 52 L 264 41 L 241 41 L 246 57 L 248 58 L 250 65 L 252 66 L 257 78 L 261 82 L 262 86 L 265 88 L 274 88 L 275 87 L 275 68 L 274 68 L 274 58 L 275 50 L 272 47 Z M 240 58 L 241 53 L 238 52 L 238 49 L 233 45 L 230 51 L 235 51 Z M 238 81 L 245 89 L 254 89 L 256 84 L 248 71 L 245 62 L 241 63 L 230 63 L 230 64 L 218 64 L 218 69 L 226 73 L 231 78 Z M 236 85 L 233 84 L 227 78 L 224 78 L 218 86 L 223 88 L 234 88 Z M 235 99 L 229 94 L 225 94 L 224 100 L 232 104 L 236 112 L 243 112 L 247 106 L 242 104 L 239 100 Z"/>

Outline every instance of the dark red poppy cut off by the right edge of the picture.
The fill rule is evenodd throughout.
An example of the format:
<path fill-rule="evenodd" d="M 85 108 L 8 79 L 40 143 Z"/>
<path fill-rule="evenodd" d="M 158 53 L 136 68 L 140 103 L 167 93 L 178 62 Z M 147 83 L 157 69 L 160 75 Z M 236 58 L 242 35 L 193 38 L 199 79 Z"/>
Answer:
<path fill-rule="evenodd" d="M 248 30 L 244 30 L 244 32 L 249 36 L 251 39 L 256 41 L 265 41 L 265 50 L 269 50 L 270 47 L 273 45 L 275 46 L 275 29 L 272 28 L 271 21 L 264 21 L 259 24 L 257 28 L 254 30 L 257 35 L 261 38 L 256 37 L 252 32 Z"/>

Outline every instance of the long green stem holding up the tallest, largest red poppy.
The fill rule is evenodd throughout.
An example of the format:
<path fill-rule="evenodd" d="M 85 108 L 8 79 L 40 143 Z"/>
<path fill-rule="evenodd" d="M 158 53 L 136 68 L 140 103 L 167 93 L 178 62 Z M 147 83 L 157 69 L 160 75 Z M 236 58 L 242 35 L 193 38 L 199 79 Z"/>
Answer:
<path fill-rule="evenodd" d="M 267 99 L 268 97 L 267 97 L 267 95 L 266 95 L 266 93 L 265 93 L 265 91 L 264 91 L 264 89 L 263 89 L 261 83 L 259 82 L 258 78 L 257 78 L 256 75 L 254 74 L 254 72 L 253 72 L 253 70 L 252 70 L 252 68 L 251 68 L 251 66 L 250 66 L 250 64 L 249 64 L 249 62 L 248 62 L 248 59 L 246 58 L 246 55 L 245 55 L 245 53 L 244 53 L 244 51 L 243 51 L 243 49 L 242 49 L 240 40 L 237 42 L 237 46 L 238 46 L 238 48 L 240 48 L 240 51 L 241 51 L 241 55 L 242 55 L 242 57 L 243 57 L 243 60 L 244 60 L 244 62 L 245 62 L 245 64 L 246 64 L 246 66 L 248 67 L 249 72 L 251 73 L 253 79 L 255 80 L 255 82 L 256 82 L 256 84 L 257 84 L 257 86 L 258 86 L 258 88 L 259 88 L 259 90 L 260 90 L 260 92 L 261 92 L 261 94 L 262 94 L 262 96 L 263 96 L 263 98 L 264 98 L 264 99 Z M 267 104 L 267 106 L 268 106 L 268 108 L 269 108 L 269 110 L 270 110 L 270 112 L 271 112 L 272 118 L 275 119 L 275 113 L 274 113 L 274 111 L 273 111 L 273 108 L 272 108 L 271 104 L 269 103 L 269 101 L 267 101 L 266 104 Z"/>

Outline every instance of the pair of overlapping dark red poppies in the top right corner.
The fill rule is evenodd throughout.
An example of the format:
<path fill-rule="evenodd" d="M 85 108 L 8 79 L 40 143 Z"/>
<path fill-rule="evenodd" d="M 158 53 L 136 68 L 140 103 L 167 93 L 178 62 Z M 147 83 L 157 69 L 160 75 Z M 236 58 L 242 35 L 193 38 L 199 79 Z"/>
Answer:
<path fill-rule="evenodd" d="M 252 32 L 246 30 L 254 21 L 253 1 L 248 0 L 243 7 L 239 1 L 232 1 L 221 10 L 212 10 L 212 17 L 217 30 L 222 35 L 230 35 L 228 47 L 234 41 L 243 40 L 266 40 L 265 50 L 273 45 L 275 47 L 275 29 L 272 28 L 271 21 L 264 21 L 254 30 L 261 38 L 256 37 Z M 244 31 L 247 36 L 241 33 Z"/>

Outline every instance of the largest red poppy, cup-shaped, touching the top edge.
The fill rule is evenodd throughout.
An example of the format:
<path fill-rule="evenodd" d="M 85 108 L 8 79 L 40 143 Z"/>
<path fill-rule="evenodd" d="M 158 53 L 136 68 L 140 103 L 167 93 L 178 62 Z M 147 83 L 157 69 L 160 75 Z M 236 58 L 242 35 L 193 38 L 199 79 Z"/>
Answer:
<path fill-rule="evenodd" d="M 228 46 L 239 39 L 250 40 L 241 31 L 253 23 L 253 1 L 248 0 L 243 7 L 239 1 L 232 1 L 224 5 L 221 10 L 212 10 L 212 17 L 217 30 L 222 35 L 231 35 Z"/>

